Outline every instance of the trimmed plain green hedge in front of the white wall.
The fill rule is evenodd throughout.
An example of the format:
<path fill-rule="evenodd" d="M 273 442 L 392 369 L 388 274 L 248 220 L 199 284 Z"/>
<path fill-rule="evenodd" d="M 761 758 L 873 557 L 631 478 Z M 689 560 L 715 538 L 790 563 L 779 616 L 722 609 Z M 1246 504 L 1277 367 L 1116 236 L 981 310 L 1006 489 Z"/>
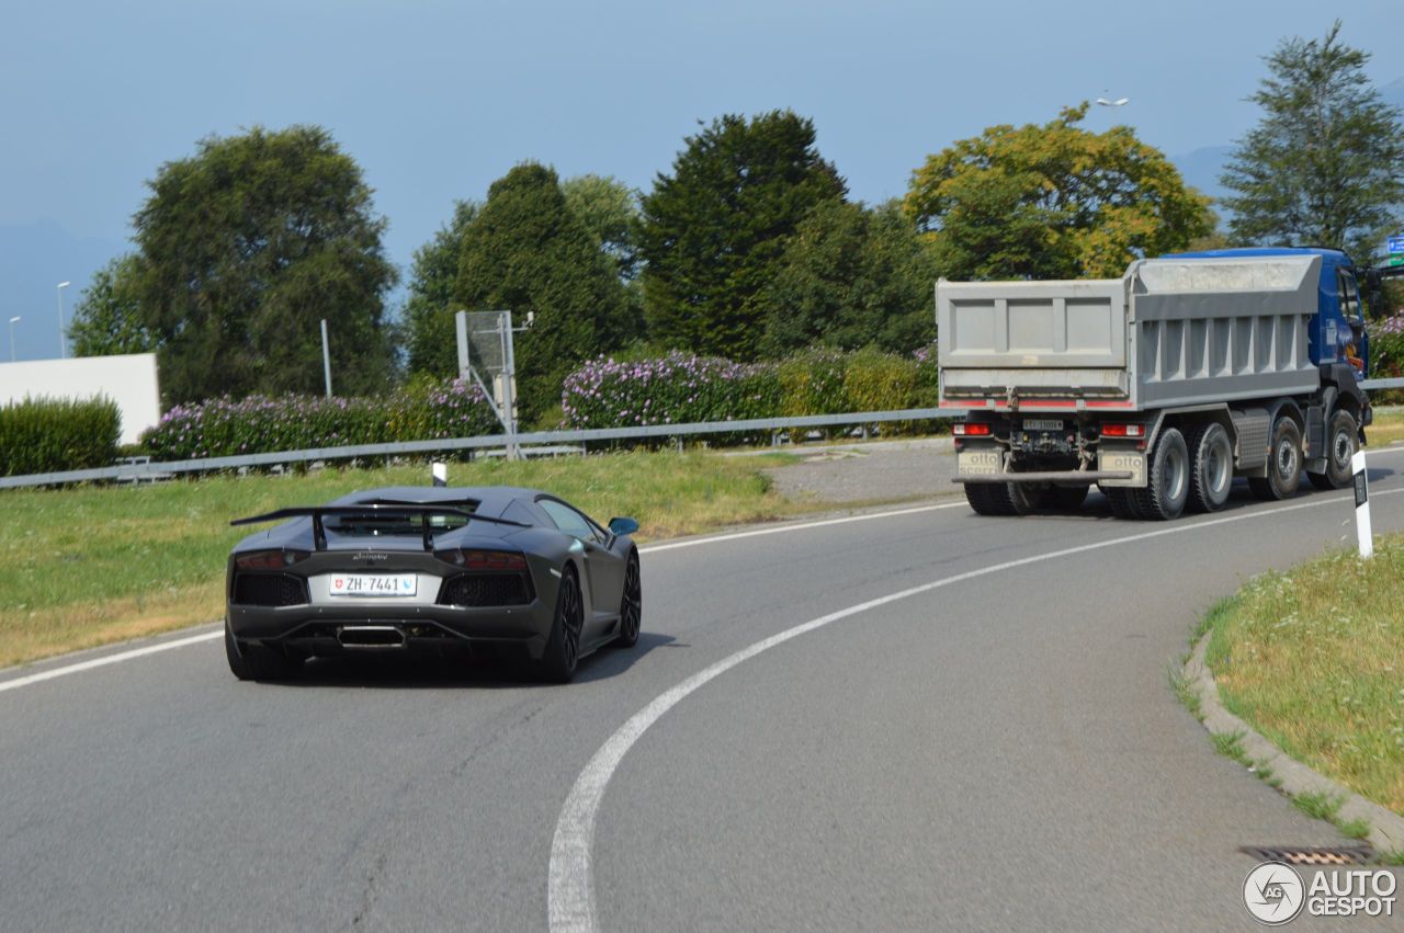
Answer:
<path fill-rule="evenodd" d="M 25 398 L 0 407 L 0 474 L 112 466 L 121 434 L 122 415 L 105 397 Z"/>

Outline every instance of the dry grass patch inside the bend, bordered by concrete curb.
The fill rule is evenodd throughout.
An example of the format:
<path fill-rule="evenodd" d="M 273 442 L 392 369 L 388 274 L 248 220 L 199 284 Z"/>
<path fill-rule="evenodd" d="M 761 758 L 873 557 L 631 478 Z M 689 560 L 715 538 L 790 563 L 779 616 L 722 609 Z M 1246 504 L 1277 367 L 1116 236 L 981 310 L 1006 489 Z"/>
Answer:
<path fill-rule="evenodd" d="M 1230 711 L 1404 814 L 1401 608 L 1404 536 L 1389 536 L 1369 563 L 1342 551 L 1254 578 L 1210 613 L 1207 662 Z"/>

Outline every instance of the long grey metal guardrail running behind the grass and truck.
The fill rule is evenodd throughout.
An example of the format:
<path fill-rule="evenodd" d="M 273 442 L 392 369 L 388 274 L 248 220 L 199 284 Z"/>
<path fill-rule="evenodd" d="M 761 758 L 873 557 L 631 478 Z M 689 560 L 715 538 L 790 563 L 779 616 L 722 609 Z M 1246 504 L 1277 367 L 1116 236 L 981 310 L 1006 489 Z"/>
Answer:
<path fill-rule="evenodd" d="M 1404 389 L 1404 379 L 1367 379 L 1363 389 Z M 592 428 L 587 431 L 535 431 L 482 438 L 445 438 L 442 441 L 400 441 L 396 443 L 364 443 L 347 448 L 314 448 L 310 450 L 275 450 L 270 453 L 247 453 L 237 457 L 201 457 L 197 460 L 173 460 L 167 463 L 122 463 L 119 466 L 93 470 L 65 470 L 62 473 L 35 473 L 31 476 L 0 477 L 0 490 L 29 485 L 58 485 L 65 483 L 90 483 L 100 480 L 140 483 L 163 480 L 183 473 L 209 473 L 218 470 L 240 470 L 247 467 L 271 467 L 295 463 L 326 460 L 365 460 L 371 457 L 402 457 L 423 453 L 444 453 L 461 450 L 505 449 L 508 441 L 519 446 L 588 443 L 591 441 L 649 441 L 656 438 L 691 438 L 708 434 L 755 434 L 774 436 L 779 431 L 797 428 L 835 428 L 844 425 L 870 425 L 890 421 L 934 421 L 952 418 L 951 411 L 939 408 L 904 408 L 901 411 L 851 411 L 838 415 L 803 415 L 796 418 L 748 418 L 746 421 L 696 421 L 689 424 L 658 424 L 636 428 Z"/>

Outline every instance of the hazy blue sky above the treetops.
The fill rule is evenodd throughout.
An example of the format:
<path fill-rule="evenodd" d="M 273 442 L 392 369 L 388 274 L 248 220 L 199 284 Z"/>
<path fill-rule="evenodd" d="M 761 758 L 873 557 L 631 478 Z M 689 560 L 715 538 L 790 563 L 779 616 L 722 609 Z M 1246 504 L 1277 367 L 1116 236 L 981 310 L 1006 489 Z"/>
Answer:
<path fill-rule="evenodd" d="M 1285 36 L 1373 53 L 1404 79 L 1400 0 L 124 0 L 20 3 L 0 17 L 0 325 L 18 359 L 58 355 L 72 311 L 131 248 L 146 181 L 197 140 L 319 123 L 354 156 L 406 271 L 514 164 L 649 189 L 722 114 L 789 108 L 854 199 L 906 192 L 929 153 L 994 123 L 1095 108 L 1172 157 L 1227 146 Z M 395 300 L 399 300 L 396 297 Z M 66 320 L 66 318 L 65 318 Z M 4 358 L 11 345 L 4 340 Z"/>

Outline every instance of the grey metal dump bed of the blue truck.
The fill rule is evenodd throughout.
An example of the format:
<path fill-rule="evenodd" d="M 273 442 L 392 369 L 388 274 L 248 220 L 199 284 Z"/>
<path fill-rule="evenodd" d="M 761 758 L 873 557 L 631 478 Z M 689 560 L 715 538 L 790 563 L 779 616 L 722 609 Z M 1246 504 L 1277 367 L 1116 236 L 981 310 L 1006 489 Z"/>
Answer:
<path fill-rule="evenodd" d="M 1120 279 L 936 283 L 942 404 L 1161 408 L 1310 393 L 1318 255 L 1139 260 Z"/>

